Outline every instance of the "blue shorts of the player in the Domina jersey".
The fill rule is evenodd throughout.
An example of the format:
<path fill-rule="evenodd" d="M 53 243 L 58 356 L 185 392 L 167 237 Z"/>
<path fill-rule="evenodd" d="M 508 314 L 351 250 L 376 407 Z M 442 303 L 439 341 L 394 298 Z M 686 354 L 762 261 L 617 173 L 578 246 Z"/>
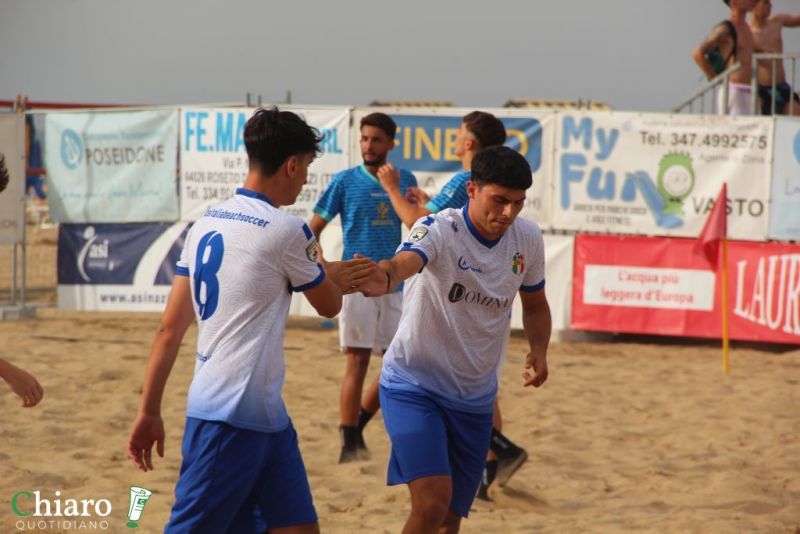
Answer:
<path fill-rule="evenodd" d="M 380 398 L 392 442 L 387 482 L 447 475 L 453 488 L 450 511 L 467 517 L 489 452 L 492 413 L 454 410 L 424 391 L 381 386 Z"/>

